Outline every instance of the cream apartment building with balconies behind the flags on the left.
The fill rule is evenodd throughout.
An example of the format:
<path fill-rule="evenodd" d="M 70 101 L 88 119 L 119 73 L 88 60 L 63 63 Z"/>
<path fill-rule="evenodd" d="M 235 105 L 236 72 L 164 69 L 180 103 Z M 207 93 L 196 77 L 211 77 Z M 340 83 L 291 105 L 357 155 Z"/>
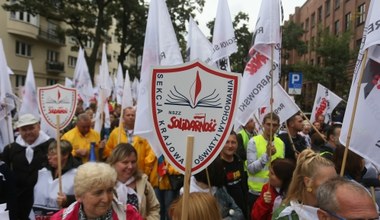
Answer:
<path fill-rule="evenodd" d="M 4 3 L 6 0 L 0 0 L 0 6 Z M 64 84 L 65 77 L 73 77 L 78 47 L 74 38 L 63 33 L 64 23 L 26 12 L 8 12 L 0 7 L 0 27 L 7 63 L 14 73 L 10 78 L 16 93 L 25 84 L 29 60 L 32 61 L 37 86 Z M 120 48 L 114 32 L 115 26 L 112 26 L 106 42 L 111 74 L 117 71 Z M 90 53 L 92 46 L 92 42 L 87 42 L 85 50 Z M 102 48 L 99 48 L 99 64 L 101 55 Z M 131 58 L 128 58 L 125 64 L 130 62 Z M 95 73 L 98 72 L 99 65 L 96 65 Z"/>

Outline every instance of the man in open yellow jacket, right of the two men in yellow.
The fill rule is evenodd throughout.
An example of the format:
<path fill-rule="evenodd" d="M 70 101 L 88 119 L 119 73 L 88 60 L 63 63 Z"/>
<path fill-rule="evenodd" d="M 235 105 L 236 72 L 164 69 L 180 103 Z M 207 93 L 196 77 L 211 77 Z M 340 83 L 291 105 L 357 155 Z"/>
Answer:
<path fill-rule="evenodd" d="M 119 143 L 130 143 L 137 151 L 137 167 L 144 173 L 149 174 L 152 168 L 145 166 L 145 158 L 149 151 L 151 151 L 151 148 L 146 139 L 133 134 L 135 116 L 136 110 L 133 107 L 124 109 L 123 123 L 111 132 L 103 152 L 103 157 L 109 157 L 112 150 Z"/>

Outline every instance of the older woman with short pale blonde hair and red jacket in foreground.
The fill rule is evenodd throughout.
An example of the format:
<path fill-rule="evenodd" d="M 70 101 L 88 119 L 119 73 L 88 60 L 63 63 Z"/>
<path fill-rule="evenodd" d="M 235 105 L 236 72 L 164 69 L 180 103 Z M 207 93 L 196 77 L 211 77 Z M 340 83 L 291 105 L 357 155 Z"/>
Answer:
<path fill-rule="evenodd" d="M 55 213 L 51 220 L 142 220 L 136 208 L 114 200 L 117 174 L 106 163 L 87 162 L 74 178 L 76 202 Z"/>

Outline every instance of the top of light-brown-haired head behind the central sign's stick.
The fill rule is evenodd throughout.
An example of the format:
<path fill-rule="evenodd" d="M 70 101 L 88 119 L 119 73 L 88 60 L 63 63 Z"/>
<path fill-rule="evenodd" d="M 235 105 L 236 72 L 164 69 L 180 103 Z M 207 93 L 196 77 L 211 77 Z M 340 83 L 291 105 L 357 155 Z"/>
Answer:
<path fill-rule="evenodd" d="M 169 216 L 172 220 L 180 220 L 182 215 L 183 196 L 175 200 L 169 208 Z M 189 194 L 189 200 L 185 204 L 188 208 L 187 219 L 221 220 L 218 202 L 210 193 L 194 192 Z M 184 219 L 184 220 L 187 220 Z"/>

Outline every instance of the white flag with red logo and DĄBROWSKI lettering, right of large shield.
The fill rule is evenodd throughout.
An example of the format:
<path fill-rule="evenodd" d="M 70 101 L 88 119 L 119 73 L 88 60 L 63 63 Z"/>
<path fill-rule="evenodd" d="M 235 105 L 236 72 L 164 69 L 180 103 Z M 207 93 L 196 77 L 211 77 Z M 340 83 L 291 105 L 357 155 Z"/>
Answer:
<path fill-rule="evenodd" d="M 280 6 L 279 0 L 261 2 L 256 24 L 255 40 L 249 54 L 249 62 L 244 69 L 236 122 L 245 125 L 252 112 L 260 106 L 260 100 L 271 91 L 271 69 L 274 85 L 279 80 L 280 65 Z M 273 51 L 273 67 L 271 51 Z"/>

